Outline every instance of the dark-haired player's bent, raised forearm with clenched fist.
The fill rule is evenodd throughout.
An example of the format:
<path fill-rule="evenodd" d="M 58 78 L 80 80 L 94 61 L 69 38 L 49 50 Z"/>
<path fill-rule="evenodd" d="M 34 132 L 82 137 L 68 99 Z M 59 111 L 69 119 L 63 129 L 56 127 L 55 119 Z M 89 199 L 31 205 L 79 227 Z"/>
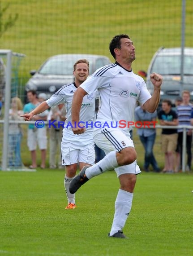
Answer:
<path fill-rule="evenodd" d="M 150 75 L 150 80 L 151 83 L 154 85 L 154 93 L 152 94 L 151 98 L 143 104 L 143 106 L 148 112 L 154 113 L 159 104 L 160 90 L 163 78 L 161 75 L 153 73 Z"/>

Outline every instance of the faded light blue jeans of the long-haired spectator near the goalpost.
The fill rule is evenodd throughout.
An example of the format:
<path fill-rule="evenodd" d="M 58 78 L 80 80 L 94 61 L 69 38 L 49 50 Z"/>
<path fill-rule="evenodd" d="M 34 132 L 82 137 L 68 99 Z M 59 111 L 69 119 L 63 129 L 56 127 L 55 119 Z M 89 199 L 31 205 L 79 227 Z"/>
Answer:
<path fill-rule="evenodd" d="M 9 166 L 22 166 L 21 138 L 21 133 L 9 134 Z"/>

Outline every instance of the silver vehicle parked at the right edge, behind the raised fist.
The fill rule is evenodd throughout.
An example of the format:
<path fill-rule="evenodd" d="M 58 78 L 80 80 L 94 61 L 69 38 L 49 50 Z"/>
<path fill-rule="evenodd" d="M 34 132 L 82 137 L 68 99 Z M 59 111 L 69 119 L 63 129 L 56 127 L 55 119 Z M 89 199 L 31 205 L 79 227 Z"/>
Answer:
<path fill-rule="evenodd" d="M 174 104 L 175 99 L 181 96 L 182 84 L 180 76 L 181 48 L 159 48 L 154 54 L 147 71 L 147 88 L 153 93 L 153 84 L 150 74 L 153 72 L 163 76 L 161 86 L 161 100 L 170 99 Z M 193 48 L 184 48 L 184 79 L 183 90 L 188 90 L 193 101 Z"/>

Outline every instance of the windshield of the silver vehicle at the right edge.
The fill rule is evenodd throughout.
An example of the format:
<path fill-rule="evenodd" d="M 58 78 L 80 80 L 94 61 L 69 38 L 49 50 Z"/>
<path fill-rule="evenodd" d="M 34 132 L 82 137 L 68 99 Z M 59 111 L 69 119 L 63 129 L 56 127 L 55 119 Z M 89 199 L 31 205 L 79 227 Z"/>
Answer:
<path fill-rule="evenodd" d="M 180 65 L 180 56 L 158 56 L 154 60 L 151 73 L 180 75 Z M 184 75 L 193 75 L 193 56 L 184 56 Z"/>

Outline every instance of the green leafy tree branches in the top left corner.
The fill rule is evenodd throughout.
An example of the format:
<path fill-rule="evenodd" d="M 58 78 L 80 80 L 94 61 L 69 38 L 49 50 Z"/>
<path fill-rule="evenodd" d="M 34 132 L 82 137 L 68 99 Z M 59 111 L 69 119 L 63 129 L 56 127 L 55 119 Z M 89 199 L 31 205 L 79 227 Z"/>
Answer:
<path fill-rule="evenodd" d="M 0 2 L 0 37 L 3 35 L 5 31 L 8 30 L 9 27 L 13 26 L 15 22 L 17 21 L 18 18 L 18 13 L 12 17 L 11 14 L 9 14 L 9 17 L 6 21 L 3 20 L 3 15 L 9 8 L 9 4 L 7 4 L 4 8 L 1 7 L 1 2 Z"/>

